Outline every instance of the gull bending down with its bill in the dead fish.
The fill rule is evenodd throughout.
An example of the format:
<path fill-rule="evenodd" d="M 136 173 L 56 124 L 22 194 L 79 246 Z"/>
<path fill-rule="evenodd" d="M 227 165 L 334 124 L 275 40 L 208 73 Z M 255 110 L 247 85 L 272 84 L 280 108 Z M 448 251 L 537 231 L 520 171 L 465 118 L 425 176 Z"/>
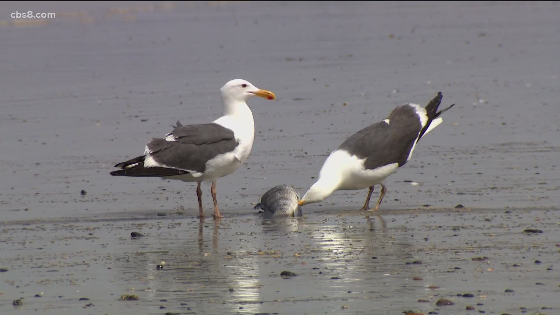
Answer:
<path fill-rule="evenodd" d="M 441 124 L 443 119 L 439 116 L 455 105 L 438 112 L 441 99 L 441 92 L 438 92 L 426 108 L 417 104 L 396 106 L 388 118 L 347 138 L 326 158 L 319 172 L 319 179 L 298 205 L 323 201 L 339 190 L 370 188 L 361 210 L 379 210 L 381 200 L 387 192 L 385 179 L 400 166 L 407 164 L 412 158 L 416 143 Z M 370 210 L 371 193 L 376 184 L 381 185 L 381 196 L 374 209 Z"/>

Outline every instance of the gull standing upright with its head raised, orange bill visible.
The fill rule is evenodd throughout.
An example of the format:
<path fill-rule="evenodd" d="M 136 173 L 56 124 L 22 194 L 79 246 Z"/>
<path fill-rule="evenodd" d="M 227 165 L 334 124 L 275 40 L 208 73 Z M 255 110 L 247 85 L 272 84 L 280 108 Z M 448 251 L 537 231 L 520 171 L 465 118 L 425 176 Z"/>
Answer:
<path fill-rule="evenodd" d="M 245 162 L 255 139 L 253 113 L 246 101 L 253 96 L 275 100 L 276 95 L 241 79 L 227 82 L 220 92 L 222 117 L 211 123 L 187 126 L 178 121 L 165 138 L 152 138 L 144 155 L 116 164 L 121 169 L 110 174 L 197 182 L 200 220 L 204 218 L 200 183 L 212 182 L 214 219 L 222 217 L 216 199 L 216 180 L 233 173 Z"/>

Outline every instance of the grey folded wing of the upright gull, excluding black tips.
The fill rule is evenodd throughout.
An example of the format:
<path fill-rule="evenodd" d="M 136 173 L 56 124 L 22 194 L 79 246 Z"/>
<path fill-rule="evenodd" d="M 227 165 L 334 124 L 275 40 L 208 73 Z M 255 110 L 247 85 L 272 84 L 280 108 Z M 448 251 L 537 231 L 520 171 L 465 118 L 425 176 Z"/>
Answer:
<path fill-rule="evenodd" d="M 147 154 L 166 168 L 204 172 L 208 160 L 233 151 L 239 142 L 231 129 L 216 123 L 177 127 L 166 138 L 154 138 Z"/>

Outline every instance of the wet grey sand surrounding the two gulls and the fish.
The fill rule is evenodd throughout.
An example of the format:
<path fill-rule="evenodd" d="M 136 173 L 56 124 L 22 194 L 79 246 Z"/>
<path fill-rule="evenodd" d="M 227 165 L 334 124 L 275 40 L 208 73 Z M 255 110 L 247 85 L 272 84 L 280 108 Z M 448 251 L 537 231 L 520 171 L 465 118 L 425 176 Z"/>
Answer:
<path fill-rule="evenodd" d="M 16 10 L 57 18 L 14 22 Z M 0 313 L 558 312 L 558 4 L 0 11 Z M 218 89 L 236 77 L 278 100 L 249 103 L 253 151 L 217 184 L 225 219 L 198 223 L 194 184 L 109 175 L 178 119 L 219 117 Z M 255 215 L 269 188 L 305 193 L 346 137 L 437 91 L 456 105 L 389 177 L 381 217 L 357 212 L 365 190 L 298 219 Z M 531 228 L 543 233 L 522 232 Z M 455 305 L 436 307 L 440 298 Z"/>

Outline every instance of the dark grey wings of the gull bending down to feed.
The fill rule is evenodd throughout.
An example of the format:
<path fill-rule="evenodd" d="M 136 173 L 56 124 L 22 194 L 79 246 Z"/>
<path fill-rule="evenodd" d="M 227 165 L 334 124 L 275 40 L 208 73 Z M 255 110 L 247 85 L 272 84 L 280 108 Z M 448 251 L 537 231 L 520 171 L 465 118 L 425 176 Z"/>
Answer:
<path fill-rule="evenodd" d="M 354 133 L 338 147 L 360 159 L 366 158 L 366 169 L 392 163 L 403 166 L 422 129 L 416 109 L 397 106 L 389 115 L 389 124 L 378 122 Z"/>

